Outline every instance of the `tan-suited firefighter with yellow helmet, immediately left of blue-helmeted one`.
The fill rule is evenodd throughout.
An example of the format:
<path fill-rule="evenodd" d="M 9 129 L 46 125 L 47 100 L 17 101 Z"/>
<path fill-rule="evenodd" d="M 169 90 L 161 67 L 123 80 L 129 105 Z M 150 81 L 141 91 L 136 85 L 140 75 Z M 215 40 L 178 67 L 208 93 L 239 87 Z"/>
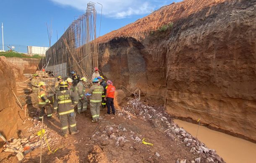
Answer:
<path fill-rule="evenodd" d="M 78 104 L 77 104 L 77 112 L 81 114 L 82 112 L 87 110 L 87 98 L 85 96 L 86 91 L 86 82 L 87 79 L 85 77 L 80 79 L 81 81 L 76 85 L 75 93 L 78 96 Z"/>

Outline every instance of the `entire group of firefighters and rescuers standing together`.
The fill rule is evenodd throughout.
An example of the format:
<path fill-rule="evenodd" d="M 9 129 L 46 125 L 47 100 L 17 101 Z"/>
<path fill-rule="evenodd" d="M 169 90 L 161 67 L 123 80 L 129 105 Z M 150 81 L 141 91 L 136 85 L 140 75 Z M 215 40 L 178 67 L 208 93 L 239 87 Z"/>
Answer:
<path fill-rule="evenodd" d="M 71 71 L 70 74 L 72 78 L 67 78 L 66 80 L 61 76 L 57 77 L 53 97 L 48 93 L 46 83 L 39 81 L 39 75 L 34 74 L 31 80 L 32 91 L 33 93 L 37 93 L 38 97 L 38 107 L 40 109 L 39 120 L 43 118 L 45 110 L 47 112 L 47 118 L 52 118 L 52 113 L 56 112 L 60 119 L 63 137 L 65 138 L 68 137 L 68 126 L 71 135 L 79 133 L 79 130 L 76 129 L 76 112 L 74 107 L 77 106 L 78 114 L 85 112 L 87 110 L 87 98 L 90 99 L 91 122 L 99 121 L 100 106 L 103 111 L 107 106 L 106 115 L 111 114 L 110 109 L 112 110 L 112 114 L 115 115 L 115 87 L 111 80 L 106 82 L 99 75 L 99 69 L 97 67 L 94 68 L 94 73 L 90 81 L 86 77 L 79 78 L 75 71 Z M 88 92 L 86 92 L 86 88 L 89 88 Z M 53 109 L 51 101 L 53 101 Z"/>

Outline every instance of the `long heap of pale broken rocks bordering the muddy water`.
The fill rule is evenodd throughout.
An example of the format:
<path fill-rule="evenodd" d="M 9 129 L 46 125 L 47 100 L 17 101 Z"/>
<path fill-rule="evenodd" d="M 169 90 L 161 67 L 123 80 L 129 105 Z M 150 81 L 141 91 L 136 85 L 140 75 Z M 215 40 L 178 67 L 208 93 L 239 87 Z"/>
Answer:
<path fill-rule="evenodd" d="M 178 159 L 177 163 L 224 163 L 225 161 L 216 154 L 214 149 L 207 148 L 204 143 L 200 142 L 198 139 L 193 137 L 191 134 L 185 131 L 185 129 L 178 127 L 170 115 L 168 115 L 162 107 L 153 108 L 151 106 L 146 106 L 140 101 L 130 100 L 127 106 L 123 107 L 121 111 L 117 114 L 130 119 L 132 116 L 140 117 L 144 120 L 150 120 L 154 127 L 160 130 L 164 129 L 164 132 L 177 144 L 184 144 L 190 147 L 191 153 L 199 153 L 200 157 L 195 160 Z M 138 137 L 133 138 L 133 140 L 139 140 Z M 139 142 L 139 141 L 138 141 Z"/>

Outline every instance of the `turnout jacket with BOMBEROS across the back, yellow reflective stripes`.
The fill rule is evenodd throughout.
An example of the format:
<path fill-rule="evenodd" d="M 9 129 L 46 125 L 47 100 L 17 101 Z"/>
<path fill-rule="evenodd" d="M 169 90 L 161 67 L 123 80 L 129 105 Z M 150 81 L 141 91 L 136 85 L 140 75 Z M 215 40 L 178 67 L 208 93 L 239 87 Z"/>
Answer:
<path fill-rule="evenodd" d="M 68 90 L 59 91 L 56 93 L 53 107 L 59 115 L 64 115 L 74 112 L 74 106 L 78 103 L 78 98 L 75 93 Z"/>

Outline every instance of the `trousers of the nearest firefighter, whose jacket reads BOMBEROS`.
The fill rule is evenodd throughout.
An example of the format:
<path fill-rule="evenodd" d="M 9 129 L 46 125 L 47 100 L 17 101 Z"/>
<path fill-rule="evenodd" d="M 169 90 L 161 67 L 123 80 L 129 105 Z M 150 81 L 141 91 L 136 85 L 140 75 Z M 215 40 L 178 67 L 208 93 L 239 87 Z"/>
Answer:
<path fill-rule="evenodd" d="M 64 115 L 60 115 L 60 125 L 61 125 L 61 130 L 62 134 L 68 134 L 68 124 L 69 124 L 69 129 L 72 132 L 76 131 L 76 113 L 68 113 Z"/>

